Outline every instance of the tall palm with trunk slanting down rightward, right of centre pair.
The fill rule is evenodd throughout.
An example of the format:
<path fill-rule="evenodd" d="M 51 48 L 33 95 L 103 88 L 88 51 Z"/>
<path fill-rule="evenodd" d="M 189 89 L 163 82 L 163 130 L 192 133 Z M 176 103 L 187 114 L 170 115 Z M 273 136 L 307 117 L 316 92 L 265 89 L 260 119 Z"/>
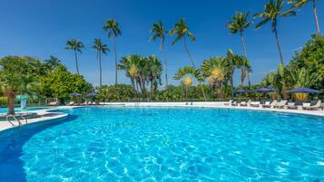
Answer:
<path fill-rule="evenodd" d="M 188 45 L 186 42 L 186 36 L 188 36 L 192 41 L 195 41 L 196 37 L 189 31 L 189 26 L 186 24 L 186 22 L 183 18 L 180 19 L 179 22 L 174 24 L 174 28 L 169 32 L 169 35 L 175 36 L 174 40 L 172 41 L 172 44 L 177 43 L 180 40 L 183 41 L 184 48 L 185 48 L 186 52 L 188 53 L 189 58 L 191 59 L 191 65 L 193 68 L 195 68 L 193 58 L 191 56 L 191 53 L 189 51 L 189 48 L 188 48 Z M 203 91 L 203 87 L 201 87 L 201 91 L 202 91 L 204 100 L 207 101 L 205 91 Z"/>

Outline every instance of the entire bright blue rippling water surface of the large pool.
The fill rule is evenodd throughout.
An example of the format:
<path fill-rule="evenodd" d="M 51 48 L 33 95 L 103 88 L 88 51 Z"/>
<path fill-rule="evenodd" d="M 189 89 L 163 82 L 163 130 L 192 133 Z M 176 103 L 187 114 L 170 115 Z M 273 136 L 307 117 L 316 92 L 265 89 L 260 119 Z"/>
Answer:
<path fill-rule="evenodd" d="M 324 120 L 274 112 L 83 108 L 0 136 L 1 182 L 323 181 Z"/>

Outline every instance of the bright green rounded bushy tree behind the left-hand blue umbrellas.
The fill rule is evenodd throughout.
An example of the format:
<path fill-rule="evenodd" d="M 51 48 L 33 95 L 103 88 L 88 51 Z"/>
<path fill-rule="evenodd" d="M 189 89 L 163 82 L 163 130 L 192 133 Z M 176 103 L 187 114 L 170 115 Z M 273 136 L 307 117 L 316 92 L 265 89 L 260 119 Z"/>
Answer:
<path fill-rule="evenodd" d="M 82 75 L 68 72 L 63 65 L 42 76 L 40 83 L 40 91 L 45 97 L 58 98 L 63 102 L 70 98 L 69 94 L 72 92 L 86 94 L 93 91 L 92 85 Z"/>

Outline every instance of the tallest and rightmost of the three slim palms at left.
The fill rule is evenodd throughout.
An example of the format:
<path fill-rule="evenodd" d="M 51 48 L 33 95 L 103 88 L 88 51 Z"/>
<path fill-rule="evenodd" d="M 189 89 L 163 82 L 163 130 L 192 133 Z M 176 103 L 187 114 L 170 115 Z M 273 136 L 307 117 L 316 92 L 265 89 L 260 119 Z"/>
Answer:
<path fill-rule="evenodd" d="M 122 34 L 122 31 L 118 27 L 118 23 L 109 19 L 103 25 L 103 30 L 108 32 L 108 37 L 113 39 L 113 53 L 114 53 L 114 63 L 115 63 L 115 84 L 118 83 L 117 78 L 117 51 L 116 51 L 116 37 Z"/>

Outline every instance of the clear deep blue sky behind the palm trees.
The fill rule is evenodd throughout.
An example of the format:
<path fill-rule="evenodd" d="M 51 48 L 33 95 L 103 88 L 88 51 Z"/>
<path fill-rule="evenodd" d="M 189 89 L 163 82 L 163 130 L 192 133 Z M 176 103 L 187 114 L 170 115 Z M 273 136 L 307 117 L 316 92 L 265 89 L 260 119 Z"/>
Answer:
<path fill-rule="evenodd" d="M 236 11 L 263 9 L 265 0 L 0 0 L 0 57 L 5 55 L 30 55 L 41 60 L 54 55 L 61 59 L 71 72 L 75 72 L 74 54 L 64 50 L 68 39 L 77 38 L 86 49 L 79 55 L 80 72 L 87 81 L 98 84 L 98 63 L 91 48 L 94 38 L 101 38 L 113 50 L 113 43 L 103 32 L 106 19 L 116 19 L 123 31 L 117 39 L 117 54 L 121 58 L 130 53 L 157 54 L 159 43 L 148 41 L 152 24 L 162 20 L 167 29 L 180 18 L 185 18 L 195 42 L 189 49 L 195 62 L 201 63 L 211 56 L 225 55 L 228 49 L 242 53 L 239 35 L 231 35 L 226 23 Z M 324 30 L 324 3 L 318 2 L 319 24 Z M 290 61 L 295 51 L 315 32 L 311 5 L 307 5 L 294 17 L 280 19 L 279 36 L 283 57 Z M 280 58 L 270 25 L 259 30 L 250 28 L 245 34 L 248 57 L 252 64 L 251 81 L 257 83 L 266 74 L 276 70 Z M 182 43 L 171 45 L 167 39 L 170 77 L 181 66 L 190 63 Z M 103 83 L 113 83 L 113 53 L 103 56 Z M 119 81 L 129 83 L 124 72 Z M 171 81 L 178 83 L 179 81 Z M 239 83 L 239 72 L 235 74 Z"/>

